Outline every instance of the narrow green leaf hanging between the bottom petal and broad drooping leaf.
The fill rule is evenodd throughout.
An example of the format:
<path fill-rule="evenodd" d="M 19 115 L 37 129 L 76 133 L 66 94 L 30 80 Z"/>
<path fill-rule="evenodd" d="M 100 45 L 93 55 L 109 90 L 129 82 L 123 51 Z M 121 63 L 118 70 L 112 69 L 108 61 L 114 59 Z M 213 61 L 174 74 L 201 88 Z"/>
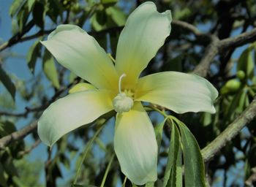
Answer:
<path fill-rule="evenodd" d="M 171 120 L 169 118 L 169 120 Z M 170 146 L 169 152 L 167 157 L 167 164 L 165 169 L 165 176 L 164 182 L 162 184 L 163 187 L 165 186 L 176 186 L 176 182 L 180 182 L 180 177 L 182 181 L 182 169 L 181 169 L 181 176 L 180 176 L 180 168 L 181 167 L 181 148 L 180 148 L 180 134 L 178 132 L 178 128 L 171 121 L 172 132 L 170 135 Z M 178 157 L 179 156 L 179 157 Z M 178 180 L 176 178 L 178 169 Z"/>

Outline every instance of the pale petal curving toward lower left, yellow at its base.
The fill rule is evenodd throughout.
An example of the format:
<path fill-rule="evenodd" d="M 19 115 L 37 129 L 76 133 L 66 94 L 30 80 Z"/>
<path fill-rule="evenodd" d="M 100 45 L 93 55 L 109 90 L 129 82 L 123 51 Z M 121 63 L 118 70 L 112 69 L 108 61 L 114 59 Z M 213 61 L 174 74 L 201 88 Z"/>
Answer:
<path fill-rule="evenodd" d="M 50 104 L 38 121 L 37 130 L 42 142 L 52 146 L 69 131 L 113 110 L 109 95 L 108 91 L 81 91 Z"/>

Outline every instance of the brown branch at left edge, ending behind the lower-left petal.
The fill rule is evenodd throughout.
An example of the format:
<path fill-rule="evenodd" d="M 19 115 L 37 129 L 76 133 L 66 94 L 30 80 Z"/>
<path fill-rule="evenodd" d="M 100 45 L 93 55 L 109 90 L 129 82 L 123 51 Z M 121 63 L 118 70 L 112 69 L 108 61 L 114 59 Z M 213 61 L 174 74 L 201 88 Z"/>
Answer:
<path fill-rule="evenodd" d="M 4 149 L 7 145 L 10 144 L 10 142 L 26 137 L 26 135 L 30 134 L 35 129 L 37 129 L 37 121 L 32 122 L 28 126 L 25 126 L 23 129 L 12 132 L 12 134 L 7 135 L 6 137 L 2 137 L 0 139 L 0 150 Z"/>

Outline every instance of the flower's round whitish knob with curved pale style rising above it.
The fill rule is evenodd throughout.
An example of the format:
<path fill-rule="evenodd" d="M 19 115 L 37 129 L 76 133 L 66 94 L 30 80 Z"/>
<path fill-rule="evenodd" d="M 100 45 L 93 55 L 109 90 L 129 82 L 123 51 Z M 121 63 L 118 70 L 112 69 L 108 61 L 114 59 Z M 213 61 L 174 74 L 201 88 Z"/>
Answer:
<path fill-rule="evenodd" d="M 121 91 L 121 80 L 125 76 L 127 75 L 123 74 L 119 77 L 119 82 L 118 82 L 119 93 L 113 99 L 113 102 L 112 102 L 114 109 L 118 113 L 128 112 L 133 106 L 133 100 L 131 98 L 133 96 L 132 91 L 129 91 L 129 90 L 124 90 L 124 92 Z"/>

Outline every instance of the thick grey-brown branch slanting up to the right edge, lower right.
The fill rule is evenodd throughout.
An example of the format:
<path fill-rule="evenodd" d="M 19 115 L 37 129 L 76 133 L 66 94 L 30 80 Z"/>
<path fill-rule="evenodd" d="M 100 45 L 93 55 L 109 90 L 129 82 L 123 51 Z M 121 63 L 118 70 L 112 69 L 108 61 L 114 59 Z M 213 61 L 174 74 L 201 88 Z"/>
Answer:
<path fill-rule="evenodd" d="M 219 150 L 221 150 L 227 142 L 233 139 L 233 137 L 236 137 L 239 131 L 246 126 L 247 123 L 252 121 L 253 118 L 255 118 L 256 115 L 256 97 L 252 100 L 251 104 L 244 110 L 244 112 L 241 113 L 241 115 L 236 118 L 233 123 L 230 123 L 229 126 L 227 126 L 227 129 L 222 131 L 221 134 L 219 134 L 218 137 L 216 137 L 209 145 L 206 146 L 206 148 L 203 148 L 201 150 L 202 156 L 204 161 L 209 161 L 212 157 L 215 156 Z"/>

